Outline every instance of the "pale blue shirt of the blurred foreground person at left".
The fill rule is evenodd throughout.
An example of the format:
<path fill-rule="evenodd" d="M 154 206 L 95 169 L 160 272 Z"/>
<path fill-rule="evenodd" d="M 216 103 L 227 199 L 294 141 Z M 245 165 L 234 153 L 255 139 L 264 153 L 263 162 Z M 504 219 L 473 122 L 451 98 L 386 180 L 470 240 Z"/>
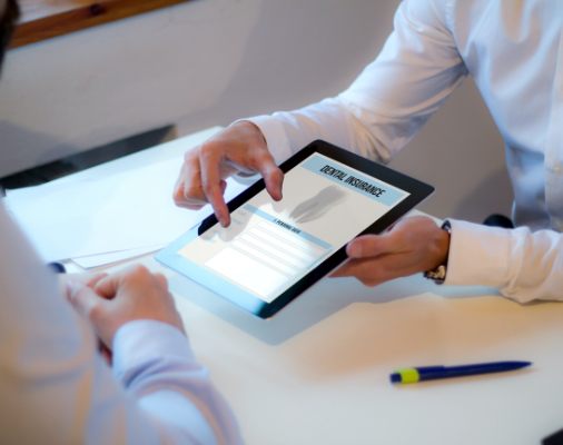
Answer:
<path fill-rule="evenodd" d="M 0 201 L 0 443 L 238 444 L 177 328 L 124 325 L 110 368 Z"/>

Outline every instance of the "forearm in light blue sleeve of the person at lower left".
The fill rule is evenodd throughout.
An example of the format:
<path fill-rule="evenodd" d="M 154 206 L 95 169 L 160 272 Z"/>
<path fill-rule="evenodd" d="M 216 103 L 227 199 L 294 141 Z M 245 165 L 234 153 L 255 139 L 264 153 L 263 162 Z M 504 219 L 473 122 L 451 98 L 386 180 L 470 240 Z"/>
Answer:
<path fill-rule="evenodd" d="M 113 340 L 113 374 L 167 439 L 240 443 L 233 413 L 178 329 L 151 320 L 125 325 Z"/>

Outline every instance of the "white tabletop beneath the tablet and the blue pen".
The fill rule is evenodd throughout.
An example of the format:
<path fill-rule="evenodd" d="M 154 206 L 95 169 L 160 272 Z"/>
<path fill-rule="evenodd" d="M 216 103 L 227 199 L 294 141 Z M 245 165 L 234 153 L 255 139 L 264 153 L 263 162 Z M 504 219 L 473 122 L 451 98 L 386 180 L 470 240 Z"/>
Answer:
<path fill-rule="evenodd" d="M 326 278 L 263 320 L 151 256 L 141 261 L 168 276 L 196 354 L 250 445 L 529 445 L 563 427 L 561 303 L 521 306 L 422 277 L 377 288 Z M 534 366 L 388 383 L 396 367 L 502 359 Z"/>

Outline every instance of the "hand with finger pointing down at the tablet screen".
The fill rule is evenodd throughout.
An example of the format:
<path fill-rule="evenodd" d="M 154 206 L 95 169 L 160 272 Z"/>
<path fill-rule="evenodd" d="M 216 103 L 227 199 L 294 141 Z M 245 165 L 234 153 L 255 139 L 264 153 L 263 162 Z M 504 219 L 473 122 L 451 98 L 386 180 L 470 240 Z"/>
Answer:
<path fill-rule="evenodd" d="M 282 199 L 284 174 L 268 151 L 261 131 L 249 121 L 239 121 L 186 152 L 174 201 L 189 209 L 209 202 L 221 226 L 227 227 L 230 216 L 223 197 L 225 179 L 236 171 L 259 172 L 271 198 Z"/>

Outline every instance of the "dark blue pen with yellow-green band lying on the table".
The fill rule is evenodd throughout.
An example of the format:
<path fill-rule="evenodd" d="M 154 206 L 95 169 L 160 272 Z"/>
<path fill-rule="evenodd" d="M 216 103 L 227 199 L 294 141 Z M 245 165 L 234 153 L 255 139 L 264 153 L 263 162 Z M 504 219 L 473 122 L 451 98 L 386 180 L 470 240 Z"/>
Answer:
<path fill-rule="evenodd" d="M 461 366 L 422 366 L 416 368 L 402 368 L 391 376 L 391 383 L 417 383 L 435 380 L 438 378 L 463 377 L 478 374 L 504 373 L 525 368 L 532 362 L 493 362 L 477 363 Z"/>

